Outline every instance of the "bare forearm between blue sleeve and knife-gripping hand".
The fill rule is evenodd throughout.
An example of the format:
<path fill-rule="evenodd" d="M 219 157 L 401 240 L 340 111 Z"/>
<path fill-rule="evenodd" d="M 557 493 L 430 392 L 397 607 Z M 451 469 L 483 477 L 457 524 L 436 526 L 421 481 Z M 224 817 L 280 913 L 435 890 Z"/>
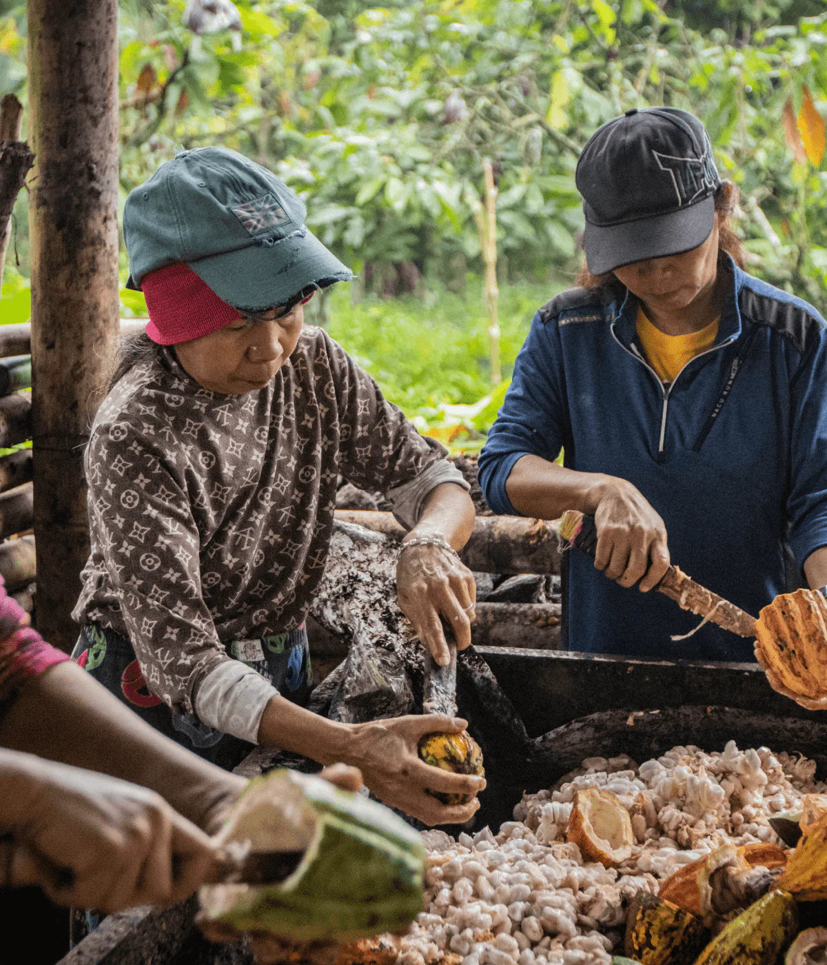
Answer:
<path fill-rule="evenodd" d="M 613 482 L 603 473 L 581 473 L 538 455 L 524 455 L 511 469 L 506 492 L 522 515 L 558 519 L 565 510 L 595 512 Z"/>

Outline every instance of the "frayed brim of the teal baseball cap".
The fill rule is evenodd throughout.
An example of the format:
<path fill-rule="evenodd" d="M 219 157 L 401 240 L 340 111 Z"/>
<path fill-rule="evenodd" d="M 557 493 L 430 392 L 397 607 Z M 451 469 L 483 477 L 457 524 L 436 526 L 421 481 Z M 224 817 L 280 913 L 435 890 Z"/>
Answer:
<path fill-rule="evenodd" d="M 353 278 L 307 228 L 271 245 L 248 245 L 187 264 L 228 305 L 249 312 L 284 305 L 322 279 L 331 284 Z"/>

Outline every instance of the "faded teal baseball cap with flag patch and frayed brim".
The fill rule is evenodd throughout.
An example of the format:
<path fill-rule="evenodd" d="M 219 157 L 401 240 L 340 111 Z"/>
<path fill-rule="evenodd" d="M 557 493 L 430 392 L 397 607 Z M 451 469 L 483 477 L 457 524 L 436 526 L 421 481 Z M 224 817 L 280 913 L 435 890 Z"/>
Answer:
<path fill-rule="evenodd" d="M 187 264 L 234 308 L 262 312 L 297 292 L 349 281 L 304 224 L 307 208 L 272 172 L 228 148 L 182 151 L 129 193 L 127 288 Z"/>

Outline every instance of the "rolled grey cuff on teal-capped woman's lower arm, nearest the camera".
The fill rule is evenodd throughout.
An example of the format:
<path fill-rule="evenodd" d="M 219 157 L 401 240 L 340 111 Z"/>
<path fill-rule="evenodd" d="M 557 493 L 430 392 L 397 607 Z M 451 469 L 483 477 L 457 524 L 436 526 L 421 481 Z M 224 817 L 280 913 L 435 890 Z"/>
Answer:
<path fill-rule="evenodd" d="M 207 727 L 259 743 L 264 707 L 278 691 L 252 667 L 225 660 L 210 671 L 195 696 L 195 713 Z"/>

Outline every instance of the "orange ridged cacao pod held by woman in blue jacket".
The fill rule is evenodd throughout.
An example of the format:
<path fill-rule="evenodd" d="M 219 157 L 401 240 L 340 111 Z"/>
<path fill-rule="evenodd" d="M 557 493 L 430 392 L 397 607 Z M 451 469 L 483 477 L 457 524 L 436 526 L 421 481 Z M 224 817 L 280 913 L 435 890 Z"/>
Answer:
<path fill-rule="evenodd" d="M 756 659 L 773 689 L 811 710 L 827 709 L 827 599 L 781 593 L 756 622 Z"/>

